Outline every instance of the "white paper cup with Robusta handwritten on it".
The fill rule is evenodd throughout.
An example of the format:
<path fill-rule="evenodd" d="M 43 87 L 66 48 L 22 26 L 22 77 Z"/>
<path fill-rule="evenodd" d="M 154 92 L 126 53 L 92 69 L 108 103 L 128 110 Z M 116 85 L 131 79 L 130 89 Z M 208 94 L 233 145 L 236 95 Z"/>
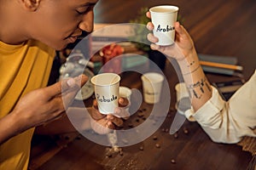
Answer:
<path fill-rule="evenodd" d="M 99 111 L 106 115 L 113 113 L 119 106 L 119 75 L 102 73 L 91 77 L 90 82 L 94 84 Z"/>

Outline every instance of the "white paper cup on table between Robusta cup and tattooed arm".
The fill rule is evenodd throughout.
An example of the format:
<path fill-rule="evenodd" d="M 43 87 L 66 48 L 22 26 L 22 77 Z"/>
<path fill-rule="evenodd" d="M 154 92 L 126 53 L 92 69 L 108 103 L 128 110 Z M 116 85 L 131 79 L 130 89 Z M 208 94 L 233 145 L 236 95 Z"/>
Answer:
<path fill-rule="evenodd" d="M 160 101 L 161 89 L 164 77 L 156 72 L 148 72 L 142 77 L 143 98 L 148 104 L 155 104 Z"/>

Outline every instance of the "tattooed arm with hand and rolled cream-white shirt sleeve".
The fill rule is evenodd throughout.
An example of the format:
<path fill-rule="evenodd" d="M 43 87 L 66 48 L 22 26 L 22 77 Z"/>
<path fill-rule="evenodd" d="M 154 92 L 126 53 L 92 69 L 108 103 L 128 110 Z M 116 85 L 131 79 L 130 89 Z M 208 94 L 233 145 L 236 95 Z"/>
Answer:
<path fill-rule="evenodd" d="M 147 16 L 150 18 L 149 12 Z M 147 26 L 148 30 L 154 28 L 151 22 Z M 185 115 L 193 117 L 214 142 L 237 143 L 243 136 L 256 137 L 256 71 L 226 102 L 208 82 L 189 33 L 178 22 L 175 31 L 175 45 L 156 45 L 153 34 L 148 34 L 148 40 L 153 42 L 151 48 L 176 59 L 181 68 L 192 105 Z"/>

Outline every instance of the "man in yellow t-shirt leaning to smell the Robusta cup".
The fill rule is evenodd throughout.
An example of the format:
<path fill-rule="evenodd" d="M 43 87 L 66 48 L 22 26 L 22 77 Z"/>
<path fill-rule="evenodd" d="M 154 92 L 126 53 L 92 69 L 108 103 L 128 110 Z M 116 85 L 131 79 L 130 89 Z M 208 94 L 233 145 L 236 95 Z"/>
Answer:
<path fill-rule="evenodd" d="M 80 76 L 45 88 L 55 50 L 93 30 L 97 1 L 0 0 L 0 169 L 27 169 L 34 127 L 63 116 L 87 81 Z"/>

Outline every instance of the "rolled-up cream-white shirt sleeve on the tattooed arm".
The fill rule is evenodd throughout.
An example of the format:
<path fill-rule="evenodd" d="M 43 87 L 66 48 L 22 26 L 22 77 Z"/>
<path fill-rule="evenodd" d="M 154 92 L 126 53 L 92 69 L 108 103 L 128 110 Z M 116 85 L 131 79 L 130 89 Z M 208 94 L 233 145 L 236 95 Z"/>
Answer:
<path fill-rule="evenodd" d="M 256 73 L 228 102 L 212 87 L 212 98 L 198 111 L 186 111 L 186 115 L 193 116 L 214 142 L 237 143 L 242 136 L 255 137 L 255 88 Z"/>

